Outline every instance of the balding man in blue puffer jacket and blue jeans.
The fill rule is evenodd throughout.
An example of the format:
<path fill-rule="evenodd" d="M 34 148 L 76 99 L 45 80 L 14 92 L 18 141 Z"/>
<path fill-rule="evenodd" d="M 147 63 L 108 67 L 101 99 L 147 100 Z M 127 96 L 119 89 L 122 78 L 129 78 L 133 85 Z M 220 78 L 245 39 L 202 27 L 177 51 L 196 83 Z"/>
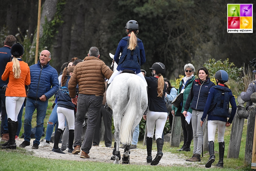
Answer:
<path fill-rule="evenodd" d="M 37 64 L 31 65 L 28 98 L 26 102 L 25 120 L 24 120 L 24 141 L 19 147 L 30 145 L 31 139 L 31 120 L 32 115 L 37 110 L 35 140 L 33 141 L 32 149 L 38 149 L 40 139 L 44 127 L 44 119 L 48 106 L 48 99 L 52 97 L 59 88 L 58 73 L 49 65 L 51 53 L 48 50 L 43 50 L 40 53 Z"/>

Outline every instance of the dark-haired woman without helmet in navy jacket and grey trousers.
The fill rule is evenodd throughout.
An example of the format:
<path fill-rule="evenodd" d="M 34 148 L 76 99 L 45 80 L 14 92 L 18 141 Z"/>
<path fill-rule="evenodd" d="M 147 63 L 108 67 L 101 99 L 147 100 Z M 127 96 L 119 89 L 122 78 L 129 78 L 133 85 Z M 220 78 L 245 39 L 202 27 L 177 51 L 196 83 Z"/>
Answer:
<path fill-rule="evenodd" d="M 198 79 L 193 81 L 189 96 L 186 100 L 183 115 L 187 116 L 187 111 L 189 107 L 192 109 L 192 128 L 193 128 L 193 139 L 194 139 L 194 150 L 193 156 L 186 161 L 201 161 L 202 153 L 202 129 L 200 126 L 200 120 L 204 112 L 205 103 L 207 101 L 208 92 L 212 86 L 215 84 L 210 81 L 209 72 L 205 67 L 199 68 L 197 71 Z"/>

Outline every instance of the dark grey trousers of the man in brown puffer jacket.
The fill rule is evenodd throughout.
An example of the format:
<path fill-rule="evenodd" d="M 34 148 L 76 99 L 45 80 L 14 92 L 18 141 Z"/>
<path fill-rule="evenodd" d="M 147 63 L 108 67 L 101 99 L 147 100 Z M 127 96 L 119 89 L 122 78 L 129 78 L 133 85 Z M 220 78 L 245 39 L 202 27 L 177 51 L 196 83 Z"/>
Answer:
<path fill-rule="evenodd" d="M 95 126 L 99 118 L 99 111 L 102 105 L 103 96 L 79 94 L 77 100 L 77 117 L 74 129 L 74 147 L 81 146 L 81 150 L 89 154 L 93 143 Z M 86 111 L 88 110 L 88 121 L 83 144 L 82 129 Z"/>

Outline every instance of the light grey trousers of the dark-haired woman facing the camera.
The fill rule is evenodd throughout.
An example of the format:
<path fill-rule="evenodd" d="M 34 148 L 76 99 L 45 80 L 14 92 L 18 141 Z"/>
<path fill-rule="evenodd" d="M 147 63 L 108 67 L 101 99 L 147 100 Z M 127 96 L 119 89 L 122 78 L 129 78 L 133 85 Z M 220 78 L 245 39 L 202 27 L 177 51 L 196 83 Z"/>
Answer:
<path fill-rule="evenodd" d="M 200 154 L 202 153 L 202 127 L 203 131 L 205 129 L 205 124 L 202 125 L 200 124 L 201 117 L 203 115 L 204 111 L 192 111 L 192 117 L 191 117 L 191 122 L 192 122 L 192 128 L 193 128 L 193 137 L 194 137 L 194 150 L 193 154 Z"/>

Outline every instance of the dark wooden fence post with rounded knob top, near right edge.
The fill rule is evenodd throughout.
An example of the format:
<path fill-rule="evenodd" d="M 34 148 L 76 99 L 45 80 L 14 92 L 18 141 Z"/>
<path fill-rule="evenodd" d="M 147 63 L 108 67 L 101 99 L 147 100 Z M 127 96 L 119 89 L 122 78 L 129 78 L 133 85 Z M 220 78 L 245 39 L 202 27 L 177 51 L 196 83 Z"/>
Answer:
<path fill-rule="evenodd" d="M 256 113 L 256 93 L 253 93 L 250 97 L 253 105 L 248 109 L 248 123 L 247 123 L 247 134 L 246 134 L 246 146 L 244 154 L 244 164 L 249 166 L 252 161 L 253 152 L 253 136 L 254 136 L 254 125 L 255 125 L 255 113 Z"/>

